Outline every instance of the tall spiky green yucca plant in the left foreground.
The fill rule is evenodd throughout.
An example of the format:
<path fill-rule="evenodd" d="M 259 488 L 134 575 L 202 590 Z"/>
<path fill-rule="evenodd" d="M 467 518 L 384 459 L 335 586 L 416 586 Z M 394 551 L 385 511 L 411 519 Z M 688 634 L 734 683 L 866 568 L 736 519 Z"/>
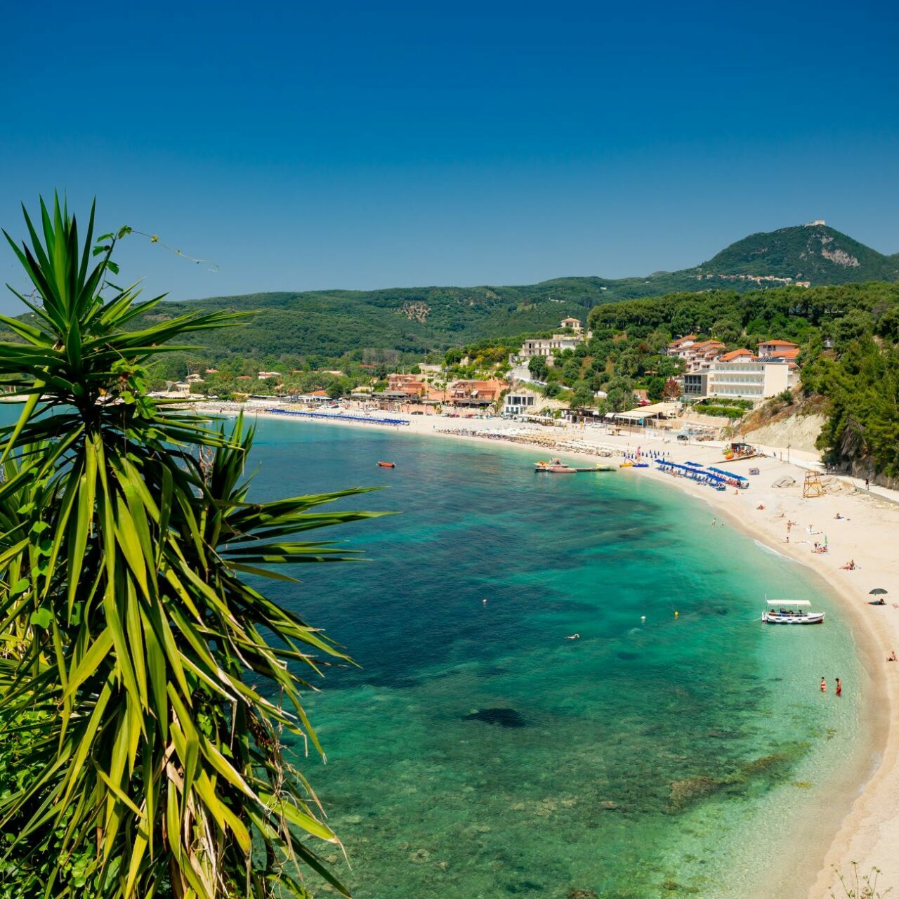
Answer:
<path fill-rule="evenodd" d="M 31 316 L 0 316 L 0 378 L 27 397 L 0 431 L 0 896 L 305 897 L 310 868 L 348 895 L 281 740 L 320 751 L 302 672 L 349 660 L 250 582 L 354 557 L 298 537 L 374 513 L 321 508 L 356 490 L 248 502 L 252 432 L 145 389 L 236 316 L 139 327 L 162 298 L 110 283 L 128 229 L 94 241 L 92 208 L 81 238 L 58 198 L 25 224 L 6 236 Z"/>

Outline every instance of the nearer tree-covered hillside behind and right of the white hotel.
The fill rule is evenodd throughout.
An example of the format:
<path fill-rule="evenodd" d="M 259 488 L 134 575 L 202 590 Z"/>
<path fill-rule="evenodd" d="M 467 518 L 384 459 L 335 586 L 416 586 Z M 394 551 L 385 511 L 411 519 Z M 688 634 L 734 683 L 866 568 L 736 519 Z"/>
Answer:
<path fill-rule="evenodd" d="M 649 353 L 678 334 L 714 337 L 728 349 L 795 341 L 803 392 L 823 398 L 818 446 L 827 461 L 899 484 L 899 284 L 655 297 L 594 309 L 590 325 L 592 358 L 606 352 L 606 363 L 617 353 L 614 370 L 625 360 L 637 374 L 641 364 L 657 367 Z M 640 348 L 645 363 L 635 357 Z"/>

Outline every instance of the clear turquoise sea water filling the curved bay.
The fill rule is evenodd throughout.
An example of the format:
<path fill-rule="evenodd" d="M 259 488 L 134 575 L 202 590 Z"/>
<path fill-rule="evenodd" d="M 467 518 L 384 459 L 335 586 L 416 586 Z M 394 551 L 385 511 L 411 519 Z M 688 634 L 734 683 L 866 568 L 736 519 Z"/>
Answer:
<path fill-rule="evenodd" d="M 402 512 L 343 532 L 370 561 L 269 587 L 361 665 L 307 697 L 351 867 L 327 854 L 358 899 L 804 895 L 793 861 L 866 763 L 839 606 L 673 487 L 535 458 L 259 423 L 255 496 L 378 485 L 343 504 Z M 762 626 L 766 592 L 827 623 Z"/>

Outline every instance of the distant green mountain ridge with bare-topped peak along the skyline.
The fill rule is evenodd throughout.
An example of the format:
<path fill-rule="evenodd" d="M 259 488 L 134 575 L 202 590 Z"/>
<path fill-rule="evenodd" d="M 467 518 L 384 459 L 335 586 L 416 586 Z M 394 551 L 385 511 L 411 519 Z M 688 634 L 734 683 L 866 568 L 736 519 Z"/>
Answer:
<path fill-rule="evenodd" d="M 552 328 L 566 316 L 585 321 L 601 303 L 678 291 L 842 284 L 899 279 L 899 254 L 886 256 L 813 223 L 753 234 L 708 263 L 645 278 L 559 278 L 521 287 L 427 287 L 261 293 L 165 303 L 154 318 L 200 309 L 252 310 L 249 324 L 198 343 L 209 355 L 335 358 L 364 349 L 424 354 Z"/>

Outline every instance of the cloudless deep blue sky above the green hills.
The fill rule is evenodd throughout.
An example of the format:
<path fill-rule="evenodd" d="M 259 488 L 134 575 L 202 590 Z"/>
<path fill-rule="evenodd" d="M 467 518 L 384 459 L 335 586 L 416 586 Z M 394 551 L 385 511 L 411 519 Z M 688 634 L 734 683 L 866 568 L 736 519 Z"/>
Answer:
<path fill-rule="evenodd" d="M 639 275 L 811 218 L 899 251 L 895 4 L 429 5 L 8 5 L 0 224 L 96 195 L 218 263 L 130 238 L 173 298 Z"/>

